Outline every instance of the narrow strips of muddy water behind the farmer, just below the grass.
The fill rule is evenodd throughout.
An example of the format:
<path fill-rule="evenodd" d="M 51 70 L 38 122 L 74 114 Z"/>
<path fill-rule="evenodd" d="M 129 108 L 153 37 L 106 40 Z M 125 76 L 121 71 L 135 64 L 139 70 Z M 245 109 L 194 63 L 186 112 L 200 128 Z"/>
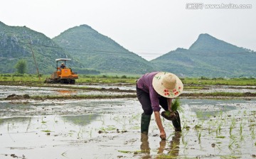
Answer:
<path fill-rule="evenodd" d="M 81 89 L 62 89 L 59 88 L 61 85 L 55 84 L 56 88 L 53 87 L 23 87 L 23 86 L 4 86 L 1 85 L 0 89 L 0 99 L 6 98 L 11 94 L 16 95 L 122 95 L 122 94 L 134 94 L 134 93 L 127 93 L 127 92 L 111 92 L 111 91 L 87 91 Z M 136 87 L 133 85 L 121 85 L 117 86 L 114 84 L 80 84 L 80 85 L 68 85 L 70 87 L 93 87 L 98 89 L 120 89 L 120 90 L 136 90 Z M 192 89 L 192 90 L 184 90 L 184 93 L 198 93 L 198 92 L 250 92 L 256 93 L 255 86 L 206 86 L 204 89 Z"/>

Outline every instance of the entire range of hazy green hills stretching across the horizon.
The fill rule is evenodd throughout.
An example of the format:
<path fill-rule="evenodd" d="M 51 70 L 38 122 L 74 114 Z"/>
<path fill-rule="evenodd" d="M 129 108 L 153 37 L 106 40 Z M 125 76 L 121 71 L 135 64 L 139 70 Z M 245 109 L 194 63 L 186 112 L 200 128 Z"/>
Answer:
<path fill-rule="evenodd" d="M 67 66 L 79 74 L 138 75 L 161 70 L 182 77 L 256 75 L 255 52 L 208 34 L 199 35 L 189 49 L 177 48 L 149 62 L 87 25 L 75 26 L 50 39 L 26 26 L 6 26 L 0 22 L 0 73 L 16 72 L 16 62 L 23 59 L 28 64 L 27 72 L 35 74 L 32 53 L 41 74 L 55 70 L 56 58 L 71 58 Z"/>

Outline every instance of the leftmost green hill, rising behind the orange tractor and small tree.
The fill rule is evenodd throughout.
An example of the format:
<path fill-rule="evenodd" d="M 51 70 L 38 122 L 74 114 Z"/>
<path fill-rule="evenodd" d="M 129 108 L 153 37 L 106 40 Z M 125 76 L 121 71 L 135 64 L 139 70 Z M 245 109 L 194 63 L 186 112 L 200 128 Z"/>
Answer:
<path fill-rule="evenodd" d="M 56 58 L 72 58 L 63 48 L 50 38 L 26 26 L 6 26 L 0 22 L 0 73 L 16 72 L 14 65 L 20 59 L 27 61 L 27 72 L 36 73 L 36 63 L 41 74 L 55 70 Z M 78 62 L 70 62 L 70 67 L 80 67 Z"/>

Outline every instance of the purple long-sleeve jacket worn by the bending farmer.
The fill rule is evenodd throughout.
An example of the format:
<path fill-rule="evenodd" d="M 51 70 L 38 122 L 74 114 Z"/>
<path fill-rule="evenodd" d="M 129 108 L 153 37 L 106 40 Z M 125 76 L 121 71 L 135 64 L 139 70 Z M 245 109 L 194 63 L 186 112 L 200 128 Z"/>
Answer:
<path fill-rule="evenodd" d="M 160 111 L 161 109 L 161 107 L 159 106 L 159 97 L 161 97 L 161 95 L 156 93 L 152 84 L 154 75 L 156 75 L 157 73 L 158 72 L 146 73 L 145 75 L 140 77 L 137 82 L 137 87 L 149 94 L 153 111 Z"/>

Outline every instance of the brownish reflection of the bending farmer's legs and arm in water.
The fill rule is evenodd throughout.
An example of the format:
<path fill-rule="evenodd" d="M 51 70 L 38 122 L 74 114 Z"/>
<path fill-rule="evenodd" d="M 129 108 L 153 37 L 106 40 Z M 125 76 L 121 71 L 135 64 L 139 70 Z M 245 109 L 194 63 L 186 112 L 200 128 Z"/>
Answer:
<path fill-rule="evenodd" d="M 142 143 L 140 148 L 142 153 L 144 154 L 142 158 L 145 158 L 145 159 L 151 158 L 148 139 L 149 137 L 147 135 L 145 134 L 141 135 Z M 180 140 L 181 140 L 181 132 L 179 131 L 176 131 L 174 133 L 174 136 L 171 138 L 170 142 L 166 140 L 161 140 L 159 142 L 159 148 L 157 152 L 158 155 L 156 156 L 156 158 L 177 158 L 179 153 Z M 165 150 L 167 151 L 167 153 L 164 153 Z"/>

